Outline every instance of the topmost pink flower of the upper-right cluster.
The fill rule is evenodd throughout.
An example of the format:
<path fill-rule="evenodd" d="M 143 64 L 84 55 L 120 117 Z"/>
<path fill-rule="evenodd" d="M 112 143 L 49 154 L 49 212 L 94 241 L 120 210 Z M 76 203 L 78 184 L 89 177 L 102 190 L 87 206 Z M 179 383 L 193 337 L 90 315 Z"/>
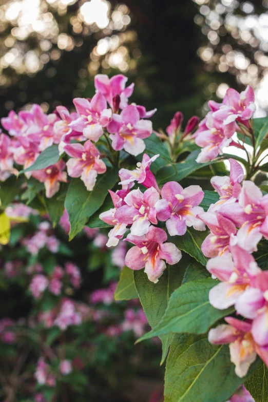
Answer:
<path fill-rule="evenodd" d="M 256 111 L 254 90 L 250 85 L 239 94 L 235 89 L 229 88 L 223 99 L 223 104 L 219 110 L 215 111 L 216 119 L 223 120 L 223 124 L 227 125 L 236 119 L 244 122 L 253 117 Z"/>

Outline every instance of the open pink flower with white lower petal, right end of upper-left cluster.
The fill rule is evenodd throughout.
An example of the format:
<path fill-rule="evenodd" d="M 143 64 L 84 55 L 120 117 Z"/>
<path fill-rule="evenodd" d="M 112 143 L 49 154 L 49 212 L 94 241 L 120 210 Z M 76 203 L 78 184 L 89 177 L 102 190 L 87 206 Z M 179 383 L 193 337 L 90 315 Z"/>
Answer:
<path fill-rule="evenodd" d="M 144 138 L 152 133 L 152 124 L 149 120 L 140 120 L 136 106 L 129 105 L 121 114 L 113 114 L 107 125 L 113 149 L 119 151 L 124 148 L 130 155 L 137 156 L 145 149 Z"/>

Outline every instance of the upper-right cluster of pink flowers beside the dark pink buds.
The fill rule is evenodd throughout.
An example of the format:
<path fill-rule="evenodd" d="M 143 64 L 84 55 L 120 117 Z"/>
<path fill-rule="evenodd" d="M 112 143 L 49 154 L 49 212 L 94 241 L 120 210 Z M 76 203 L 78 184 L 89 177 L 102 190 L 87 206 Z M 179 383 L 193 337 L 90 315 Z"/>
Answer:
<path fill-rule="evenodd" d="M 203 148 L 197 162 L 208 162 L 223 152 L 223 148 L 234 145 L 241 148 L 232 137 L 236 131 L 251 132 L 251 119 L 256 110 L 255 95 L 251 86 L 240 94 L 229 88 L 222 104 L 209 101 L 210 111 L 195 132 L 196 144 Z"/>

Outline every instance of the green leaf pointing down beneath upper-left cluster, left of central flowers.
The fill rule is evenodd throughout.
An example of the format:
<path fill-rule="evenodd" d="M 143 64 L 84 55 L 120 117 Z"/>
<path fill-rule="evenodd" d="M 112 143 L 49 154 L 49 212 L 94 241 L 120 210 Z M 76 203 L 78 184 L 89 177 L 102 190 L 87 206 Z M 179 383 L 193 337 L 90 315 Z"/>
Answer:
<path fill-rule="evenodd" d="M 71 225 L 70 240 L 82 231 L 88 218 L 102 206 L 108 189 L 111 189 L 118 180 L 118 169 L 107 169 L 106 173 L 98 175 L 93 190 L 88 192 L 81 179 L 72 179 L 65 200 Z"/>

